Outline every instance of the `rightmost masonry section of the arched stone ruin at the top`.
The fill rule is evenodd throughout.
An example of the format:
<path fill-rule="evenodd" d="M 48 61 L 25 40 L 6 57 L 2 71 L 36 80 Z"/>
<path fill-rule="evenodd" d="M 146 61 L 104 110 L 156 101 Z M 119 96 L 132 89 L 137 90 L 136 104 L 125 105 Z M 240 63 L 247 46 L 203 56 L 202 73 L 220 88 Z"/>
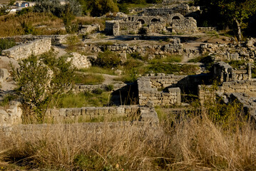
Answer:
<path fill-rule="evenodd" d="M 172 23 L 172 32 L 173 33 L 197 33 L 198 26 L 195 19 L 188 17 L 183 19 L 173 19 Z"/>

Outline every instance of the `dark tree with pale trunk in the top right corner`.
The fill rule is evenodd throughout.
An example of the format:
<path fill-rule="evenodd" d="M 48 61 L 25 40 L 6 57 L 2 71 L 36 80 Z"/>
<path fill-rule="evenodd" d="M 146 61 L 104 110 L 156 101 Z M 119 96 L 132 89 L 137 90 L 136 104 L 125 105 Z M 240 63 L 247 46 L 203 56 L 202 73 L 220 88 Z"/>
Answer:
<path fill-rule="evenodd" d="M 235 29 L 239 41 L 242 39 L 241 29 L 247 28 L 247 19 L 256 11 L 255 0 L 195 0 L 195 5 L 204 9 L 205 21 L 201 24 L 230 26 Z"/>

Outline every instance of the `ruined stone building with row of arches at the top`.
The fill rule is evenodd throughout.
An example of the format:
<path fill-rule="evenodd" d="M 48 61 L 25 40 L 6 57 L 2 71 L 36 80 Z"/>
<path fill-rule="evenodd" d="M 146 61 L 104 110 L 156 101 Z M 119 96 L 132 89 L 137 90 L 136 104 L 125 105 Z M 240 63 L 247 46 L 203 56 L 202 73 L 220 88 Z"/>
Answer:
<path fill-rule="evenodd" d="M 187 4 L 167 8 L 144 9 L 136 16 L 116 17 L 106 21 L 106 33 L 118 36 L 138 33 L 139 28 L 148 28 L 149 33 L 196 33 L 197 22 L 188 14 L 200 10 Z"/>

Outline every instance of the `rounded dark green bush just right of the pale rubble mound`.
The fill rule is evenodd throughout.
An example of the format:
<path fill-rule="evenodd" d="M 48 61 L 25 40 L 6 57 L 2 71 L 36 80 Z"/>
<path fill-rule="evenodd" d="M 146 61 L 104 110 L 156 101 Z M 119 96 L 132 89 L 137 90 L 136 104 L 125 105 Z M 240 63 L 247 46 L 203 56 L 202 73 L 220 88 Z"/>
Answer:
<path fill-rule="evenodd" d="M 116 68 L 121 64 L 121 59 L 117 53 L 105 51 L 98 53 L 97 60 L 93 63 L 94 66 L 103 68 Z"/>

